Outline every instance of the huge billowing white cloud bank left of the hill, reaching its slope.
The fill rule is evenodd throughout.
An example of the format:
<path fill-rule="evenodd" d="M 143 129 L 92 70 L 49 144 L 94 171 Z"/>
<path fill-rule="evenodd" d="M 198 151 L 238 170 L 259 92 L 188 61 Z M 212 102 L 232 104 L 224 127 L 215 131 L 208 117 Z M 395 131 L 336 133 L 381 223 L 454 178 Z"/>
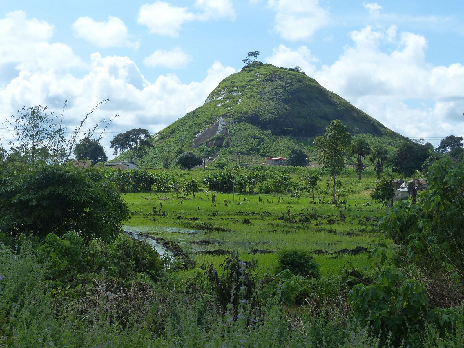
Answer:
<path fill-rule="evenodd" d="M 200 82 L 185 84 L 175 74 L 148 81 L 129 57 L 93 53 L 83 63 L 68 46 L 50 42 L 53 30 L 49 23 L 27 19 L 20 11 L 0 19 L 0 68 L 5 64 L 16 68 L 6 84 L 0 81 L 0 119 L 8 119 L 22 106 L 39 104 L 60 112 L 67 99 L 64 125 L 72 130 L 97 103 L 109 98 L 110 103 L 90 115 L 87 126 L 118 114 L 107 132 L 137 126 L 153 134 L 202 105 L 211 90 L 235 72 L 214 62 Z M 78 76 L 71 69 L 75 67 L 80 68 Z M 113 136 L 103 134 L 107 155 Z M 11 140 L 5 130 L 0 137 Z"/>

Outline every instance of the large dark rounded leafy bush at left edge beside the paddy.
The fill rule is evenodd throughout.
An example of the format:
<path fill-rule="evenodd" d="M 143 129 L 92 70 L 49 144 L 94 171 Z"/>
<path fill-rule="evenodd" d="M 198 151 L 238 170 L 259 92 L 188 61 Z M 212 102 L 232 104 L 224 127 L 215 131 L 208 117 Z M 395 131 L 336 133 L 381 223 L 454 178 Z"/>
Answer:
<path fill-rule="evenodd" d="M 111 240 L 129 218 L 115 185 L 98 170 L 10 166 L 0 183 L 0 231 L 8 235 L 76 231 L 85 239 Z"/>

